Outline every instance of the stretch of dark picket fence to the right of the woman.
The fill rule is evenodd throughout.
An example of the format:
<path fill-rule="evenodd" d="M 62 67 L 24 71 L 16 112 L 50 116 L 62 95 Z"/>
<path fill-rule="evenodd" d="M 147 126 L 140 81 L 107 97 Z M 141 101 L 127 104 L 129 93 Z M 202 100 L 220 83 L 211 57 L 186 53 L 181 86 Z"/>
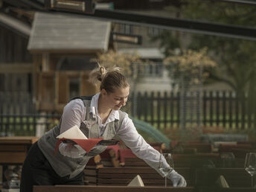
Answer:
<path fill-rule="evenodd" d="M 186 102 L 195 100 L 194 97 L 202 97 L 198 112 L 192 111 L 189 105 L 185 109 L 186 127 L 198 124 L 201 121 L 204 127 L 220 127 L 225 129 L 253 129 L 256 128 L 256 109 L 251 106 L 248 100 L 236 97 L 234 92 L 216 91 L 202 92 L 201 96 L 196 92 L 185 94 Z M 174 92 L 144 92 L 138 95 L 132 94 L 129 97 L 130 104 L 126 111 L 138 119 L 146 121 L 155 127 L 169 129 L 180 127 L 181 107 L 180 95 Z M 135 105 L 132 102 L 136 103 Z M 135 109 L 134 109 L 135 108 Z"/>

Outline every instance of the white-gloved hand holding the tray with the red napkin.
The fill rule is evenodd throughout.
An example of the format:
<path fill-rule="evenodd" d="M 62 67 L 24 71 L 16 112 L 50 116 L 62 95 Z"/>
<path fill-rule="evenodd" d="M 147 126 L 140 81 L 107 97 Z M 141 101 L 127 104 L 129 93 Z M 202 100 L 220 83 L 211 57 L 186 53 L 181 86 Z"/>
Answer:
<path fill-rule="evenodd" d="M 68 156 L 72 159 L 77 159 L 86 155 L 86 150 L 83 150 L 78 144 L 61 143 L 59 150 L 63 156 Z"/>

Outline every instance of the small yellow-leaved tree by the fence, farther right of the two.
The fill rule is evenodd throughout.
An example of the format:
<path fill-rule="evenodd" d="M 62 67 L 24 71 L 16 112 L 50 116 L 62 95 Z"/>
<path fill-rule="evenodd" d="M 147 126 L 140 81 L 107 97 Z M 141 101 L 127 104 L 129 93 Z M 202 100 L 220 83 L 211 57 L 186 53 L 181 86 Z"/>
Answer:
<path fill-rule="evenodd" d="M 208 77 L 206 69 L 216 67 L 214 60 L 207 55 L 207 48 L 199 51 L 183 51 L 181 54 L 172 54 L 164 60 L 164 65 L 169 69 L 169 74 L 180 88 L 180 126 L 196 129 L 201 128 L 201 100 L 202 81 Z M 196 90 L 193 90 L 196 89 Z M 187 96 L 188 91 L 193 94 Z M 196 91 L 196 92 L 194 92 Z M 188 99 L 189 97 L 189 99 Z M 188 107 L 190 108 L 189 110 Z M 188 118 L 189 117 L 189 118 Z M 196 125 L 193 119 L 196 118 Z M 183 135 L 187 139 L 188 135 Z"/>

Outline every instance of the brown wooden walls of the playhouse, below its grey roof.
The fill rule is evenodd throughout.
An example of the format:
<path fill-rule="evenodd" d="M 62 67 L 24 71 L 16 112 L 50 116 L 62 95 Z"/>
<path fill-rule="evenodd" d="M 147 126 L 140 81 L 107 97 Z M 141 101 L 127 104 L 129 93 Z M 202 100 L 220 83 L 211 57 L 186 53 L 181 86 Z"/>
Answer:
<path fill-rule="evenodd" d="M 98 89 L 97 86 L 89 83 L 89 72 L 48 71 L 40 73 L 37 108 L 47 112 L 61 113 L 65 104 L 71 99 L 70 81 L 72 78 L 79 80 L 79 89 L 75 96 L 95 95 Z"/>

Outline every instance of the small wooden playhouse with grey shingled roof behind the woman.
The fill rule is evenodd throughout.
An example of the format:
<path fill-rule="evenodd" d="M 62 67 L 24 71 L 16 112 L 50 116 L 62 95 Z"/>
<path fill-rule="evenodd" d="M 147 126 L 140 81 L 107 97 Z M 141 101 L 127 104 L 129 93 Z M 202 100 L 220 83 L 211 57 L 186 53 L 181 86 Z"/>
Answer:
<path fill-rule="evenodd" d="M 62 112 L 77 95 L 93 95 L 92 58 L 109 48 L 111 22 L 60 13 L 35 13 L 28 50 L 33 54 L 36 108 Z"/>

